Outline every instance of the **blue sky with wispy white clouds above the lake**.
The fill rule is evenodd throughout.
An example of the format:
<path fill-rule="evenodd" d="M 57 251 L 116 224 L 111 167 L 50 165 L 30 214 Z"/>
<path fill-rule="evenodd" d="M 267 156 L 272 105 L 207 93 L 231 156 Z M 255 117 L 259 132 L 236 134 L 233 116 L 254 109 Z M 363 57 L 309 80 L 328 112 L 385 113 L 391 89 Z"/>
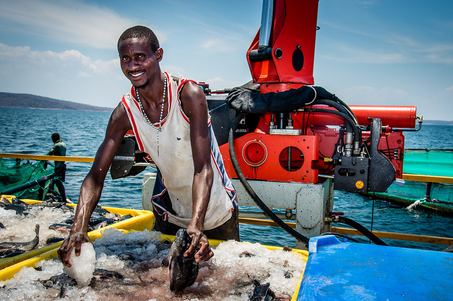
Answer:
<path fill-rule="evenodd" d="M 0 91 L 116 107 L 130 82 L 116 44 L 155 31 L 161 68 L 212 89 L 251 79 L 261 0 L 0 0 Z M 349 105 L 417 106 L 453 120 L 453 2 L 320 0 L 315 85 Z"/>

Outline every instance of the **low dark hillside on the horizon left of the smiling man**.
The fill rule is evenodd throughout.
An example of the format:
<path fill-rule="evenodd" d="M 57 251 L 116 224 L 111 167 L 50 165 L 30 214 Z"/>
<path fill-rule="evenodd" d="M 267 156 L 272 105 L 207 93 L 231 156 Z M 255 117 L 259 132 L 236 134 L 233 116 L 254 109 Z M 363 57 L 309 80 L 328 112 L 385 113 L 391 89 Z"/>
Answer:
<path fill-rule="evenodd" d="M 0 107 L 112 112 L 112 108 L 60 101 L 32 94 L 0 92 Z"/>

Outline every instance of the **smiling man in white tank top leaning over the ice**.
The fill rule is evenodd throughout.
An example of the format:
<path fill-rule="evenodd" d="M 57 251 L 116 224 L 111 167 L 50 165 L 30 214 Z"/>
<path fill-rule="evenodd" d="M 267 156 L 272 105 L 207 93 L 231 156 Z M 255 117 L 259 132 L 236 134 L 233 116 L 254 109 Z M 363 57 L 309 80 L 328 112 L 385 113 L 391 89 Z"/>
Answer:
<path fill-rule="evenodd" d="M 206 97 L 195 82 L 161 72 L 163 50 L 150 29 L 127 29 L 118 40 L 118 53 L 132 88 L 110 116 L 58 257 L 70 266 L 72 249 L 79 256 L 82 243 L 91 242 L 88 222 L 119 145 L 132 130 L 139 148 L 159 168 L 153 195 L 156 230 L 176 233 L 186 228 L 192 243 L 185 255 L 198 247 L 196 261 L 206 261 L 213 256 L 207 233 L 209 238 L 239 240 L 236 192 L 223 169 Z"/>

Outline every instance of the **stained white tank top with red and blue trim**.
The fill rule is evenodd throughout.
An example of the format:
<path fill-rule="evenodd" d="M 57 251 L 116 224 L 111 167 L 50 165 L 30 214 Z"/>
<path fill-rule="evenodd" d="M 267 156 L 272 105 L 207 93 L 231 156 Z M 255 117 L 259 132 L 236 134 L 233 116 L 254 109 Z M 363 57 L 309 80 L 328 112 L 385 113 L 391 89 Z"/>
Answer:
<path fill-rule="evenodd" d="M 138 147 L 146 152 L 158 166 L 152 202 L 155 211 L 170 223 L 187 228 L 192 218 L 192 182 L 194 165 L 190 143 L 190 121 L 181 108 L 181 89 L 189 80 L 181 78 L 179 83 L 165 72 L 168 93 L 165 101 L 169 109 L 164 112 L 162 132 L 159 133 L 159 154 L 157 147 L 157 130 L 146 122 L 135 97 L 135 89 L 123 96 L 122 103 L 126 109 Z M 159 127 L 159 123 L 155 124 Z M 211 136 L 211 166 L 214 179 L 211 188 L 208 208 L 204 220 L 204 230 L 222 225 L 231 218 L 231 210 L 236 207 L 236 192 L 230 178 L 223 168 L 220 151 L 214 132 L 207 124 Z M 175 215 L 168 212 L 159 202 L 159 196 L 168 191 Z"/>

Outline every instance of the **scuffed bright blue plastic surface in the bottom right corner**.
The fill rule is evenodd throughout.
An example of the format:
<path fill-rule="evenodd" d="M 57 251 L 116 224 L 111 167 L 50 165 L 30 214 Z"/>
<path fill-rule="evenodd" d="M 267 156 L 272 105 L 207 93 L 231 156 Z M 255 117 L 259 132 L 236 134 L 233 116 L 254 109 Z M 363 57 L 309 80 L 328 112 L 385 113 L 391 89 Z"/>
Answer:
<path fill-rule="evenodd" d="M 297 300 L 453 300 L 453 254 L 313 237 Z"/>

